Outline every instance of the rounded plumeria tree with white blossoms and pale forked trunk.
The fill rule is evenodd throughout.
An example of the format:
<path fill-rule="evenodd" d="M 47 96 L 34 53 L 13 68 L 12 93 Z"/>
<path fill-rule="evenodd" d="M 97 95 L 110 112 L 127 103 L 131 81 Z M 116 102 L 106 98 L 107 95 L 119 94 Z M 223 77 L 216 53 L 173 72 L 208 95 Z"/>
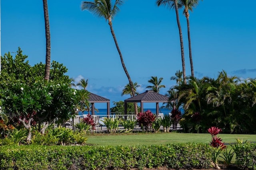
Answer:
<path fill-rule="evenodd" d="M 4 91 L 2 111 L 15 117 L 28 129 L 27 141 L 31 140 L 32 127 L 38 123 L 61 122 L 74 114 L 76 92 L 68 84 L 57 84 L 52 81 L 38 81 L 27 84 L 14 84 Z M 47 123 L 43 130 L 47 127 Z M 44 131 L 42 131 L 43 133 Z"/>

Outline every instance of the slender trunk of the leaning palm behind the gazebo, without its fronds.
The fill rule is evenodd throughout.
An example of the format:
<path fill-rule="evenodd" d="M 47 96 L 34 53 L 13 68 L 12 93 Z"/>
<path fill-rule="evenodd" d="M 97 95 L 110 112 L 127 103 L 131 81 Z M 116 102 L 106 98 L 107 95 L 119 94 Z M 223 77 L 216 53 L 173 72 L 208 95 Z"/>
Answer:
<path fill-rule="evenodd" d="M 130 75 L 129 75 L 127 69 L 126 69 L 126 66 L 125 66 L 125 64 L 124 64 L 124 59 L 123 59 L 121 50 L 120 50 L 119 45 L 118 45 L 117 40 L 116 40 L 116 35 L 115 35 L 115 33 L 114 33 L 114 29 L 113 29 L 113 26 L 112 26 L 112 20 L 111 20 L 111 18 L 108 19 L 108 25 L 110 26 L 110 31 L 111 31 L 112 36 L 113 36 L 113 39 L 114 39 L 114 41 L 115 41 L 116 49 L 117 49 L 117 51 L 118 51 L 118 53 L 119 53 L 122 66 L 123 66 L 123 68 L 124 68 L 124 72 L 125 72 L 125 74 L 126 74 L 126 76 L 127 76 L 127 78 L 128 78 L 129 84 L 130 84 L 130 86 L 131 86 L 131 88 L 132 88 L 132 96 L 135 96 L 133 83 L 132 83 L 132 80 L 131 80 L 131 78 L 130 78 Z M 135 109 L 135 114 L 138 114 L 138 108 L 135 107 L 134 109 Z"/>

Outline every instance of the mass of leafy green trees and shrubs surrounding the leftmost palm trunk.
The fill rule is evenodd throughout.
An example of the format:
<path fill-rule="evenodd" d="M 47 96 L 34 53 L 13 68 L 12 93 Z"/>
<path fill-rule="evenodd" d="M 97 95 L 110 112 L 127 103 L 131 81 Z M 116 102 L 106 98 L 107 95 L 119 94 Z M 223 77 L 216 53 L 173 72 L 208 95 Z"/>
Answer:
<path fill-rule="evenodd" d="M 26 135 L 29 142 L 32 128 L 36 125 L 38 131 L 44 133 L 49 122 L 62 123 L 70 119 L 80 95 L 76 95 L 77 91 L 70 86 L 71 80 L 64 75 L 67 72 L 65 66 L 53 61 L 50 80 L 46 81 L 44 64 L 30 66 L 27 57 L 20 48 L 15 57 L 10 53 L 1 57 L 0 102 L 1 113 L 10 115 L 12 119 L 4 123 L 28 129 Z M 85 100 L 86 95 L 88 93 L 84 95 Z"/>

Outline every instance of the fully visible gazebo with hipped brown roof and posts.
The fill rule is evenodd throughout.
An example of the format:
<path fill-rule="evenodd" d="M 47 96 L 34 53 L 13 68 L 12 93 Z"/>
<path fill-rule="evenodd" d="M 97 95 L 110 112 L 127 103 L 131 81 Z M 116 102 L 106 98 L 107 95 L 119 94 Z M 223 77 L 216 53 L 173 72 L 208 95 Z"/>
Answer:
<path fill-rule="evenodd" d="M 138 94 L 132 98 L 124 100 L 124 114 L 127 114 L 127 103 L 140 103 L 140 111 L 143 112 L 143 103 L 156 103 L 156 115 L 159 114 L 159 103 L 168 102 L 168 97 L 158 94 L 153 90 Z"/>

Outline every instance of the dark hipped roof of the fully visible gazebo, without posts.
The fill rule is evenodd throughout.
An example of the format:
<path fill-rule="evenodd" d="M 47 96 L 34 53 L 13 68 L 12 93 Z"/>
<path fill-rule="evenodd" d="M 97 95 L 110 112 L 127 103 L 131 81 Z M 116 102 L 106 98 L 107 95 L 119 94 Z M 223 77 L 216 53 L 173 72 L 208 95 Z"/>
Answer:
<path fill-rule="evenodd" d="M 154 103 L 154 102 L 168 102 L 168 97 L 162 94 L 158 94 L 153 90 L 146 90 L 146 92 L 138 94 L 132 98 L 128 98 L 124 100 L 124 102 L 144 102 L 144 103 Z"/>

